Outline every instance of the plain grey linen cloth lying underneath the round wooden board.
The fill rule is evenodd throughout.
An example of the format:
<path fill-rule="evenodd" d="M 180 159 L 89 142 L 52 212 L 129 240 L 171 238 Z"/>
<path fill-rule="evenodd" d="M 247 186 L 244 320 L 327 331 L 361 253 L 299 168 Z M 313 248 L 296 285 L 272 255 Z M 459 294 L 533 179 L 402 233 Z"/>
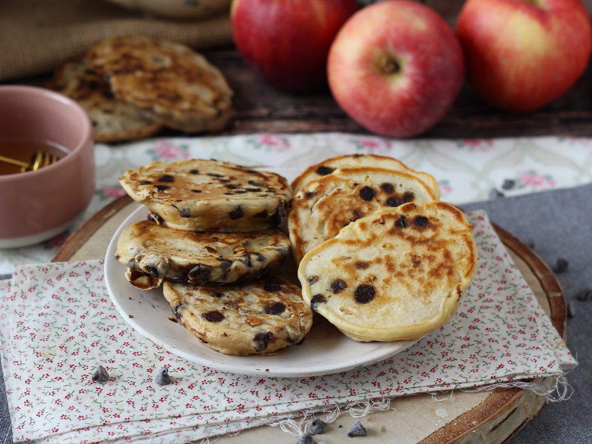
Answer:
<path fill-rule="evenodd" d="M 592 300 L 575 298 L 582 289 L 592 287 L 592 184 L 499 198 L 462 205 L 462 208 L 487 211 L 494 223 L 523 242 L 533 243 L 535 252 L 551 268 L 558 258 L 569 263 L 567 270 L 557 277 L 565 299 L 568 303 L 573 301 L 575 308 L 574 317 L 567 323 L 567 345 L 580 363 L 567 375 L 574 393 L 568 401 L 543 407 L 511 439 L 511 444 L 592 442 Z M 3 378 L 0 378 L 0 391 L 5 391 Z M 5 396 L 0 396 L 0 442 L 12 442 Z"/>

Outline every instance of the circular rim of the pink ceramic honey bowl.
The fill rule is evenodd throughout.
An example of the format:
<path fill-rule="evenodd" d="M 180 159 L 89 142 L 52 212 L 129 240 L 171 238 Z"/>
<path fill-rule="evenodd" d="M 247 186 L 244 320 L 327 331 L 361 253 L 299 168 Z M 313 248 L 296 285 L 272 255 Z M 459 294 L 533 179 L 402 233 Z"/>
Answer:
<path fill-rule="evenodd" d="M 83 110 L 81 105 L 79 105 L 77 102 L 73 101 L 69 97 L 60 94 L 59 92 L 52 91 L 51 89 L 40 88 L 38 86 L 0 85 L 0 96 L 6 92 L 17 92 L 20 94 L 28 95 L 41 95 L 62 102 L 63 104 L 72 107 L 72 110 L 75 114 L 81 115 L 83 121 L 83 128 L 81 140 L 72 149 L 68 147 L 68 149 L 70 149 L 70 152 L 63 159 L 60 159 L 59 162 L 56 162 L 53 165 L 45 166 L 42 169 L 38 169 L 37 171 L 27 171 L 25 173 L 0 175 L 0 184 L 2 182 L 26 181 L 28 180 L 28 178 L 33 178 L 35 175 L 38 174 L 49 173 L 57 169 L 67 168 L 70 163 L 76 162 L 75 155 L 80 153 L 89 141 L 91 143 L 94 143 L 92 139 L 91 120 L 88 117 L 88 114 L 86 114 L 86 111 Z M 1 100 L 0 106 L 2 106 Z"/>

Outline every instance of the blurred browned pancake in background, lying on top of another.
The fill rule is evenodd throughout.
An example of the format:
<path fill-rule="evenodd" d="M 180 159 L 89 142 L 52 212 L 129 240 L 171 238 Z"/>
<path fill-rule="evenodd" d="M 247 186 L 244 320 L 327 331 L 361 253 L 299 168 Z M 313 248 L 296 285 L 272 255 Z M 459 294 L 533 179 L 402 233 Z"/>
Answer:
<path fill-rule="evenodd" d="M 170 128 L 219 131 L 232 115 L 232 90 L 222 73 L 191 48 L 143 36 L 112 37 L 88 53 L 118 98 Z"/>

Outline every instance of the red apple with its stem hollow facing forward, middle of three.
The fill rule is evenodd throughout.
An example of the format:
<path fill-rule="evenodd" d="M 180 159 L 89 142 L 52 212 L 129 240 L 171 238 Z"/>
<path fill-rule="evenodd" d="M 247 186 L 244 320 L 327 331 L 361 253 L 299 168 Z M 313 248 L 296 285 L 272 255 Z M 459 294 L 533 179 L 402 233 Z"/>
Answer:
<path fill-rule="evenodd" d="M 335 37 L 327 62 L 340 107 L 390 137 L 422 133 L 452 106 L 464 79 L 461 46 L 432 9 L 390 0 L 361 9 Z"/>

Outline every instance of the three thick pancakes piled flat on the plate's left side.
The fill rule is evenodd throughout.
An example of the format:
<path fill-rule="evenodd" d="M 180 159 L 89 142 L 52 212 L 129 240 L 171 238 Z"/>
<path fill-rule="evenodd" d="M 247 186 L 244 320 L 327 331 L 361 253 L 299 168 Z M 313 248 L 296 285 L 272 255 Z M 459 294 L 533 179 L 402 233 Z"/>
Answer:
<path fill-rule="evenodd" d="M 117 243 L 132 285 L 162 285 L 179 323 L 214 350 L 273 353 L 301 342 L 311 309 L 300 288 L 268 274 L 290 251 L 276 228 L 292 197 L 284 178 L 181 160 L 128 170 L 120 182 L 147 207 Z"/>

